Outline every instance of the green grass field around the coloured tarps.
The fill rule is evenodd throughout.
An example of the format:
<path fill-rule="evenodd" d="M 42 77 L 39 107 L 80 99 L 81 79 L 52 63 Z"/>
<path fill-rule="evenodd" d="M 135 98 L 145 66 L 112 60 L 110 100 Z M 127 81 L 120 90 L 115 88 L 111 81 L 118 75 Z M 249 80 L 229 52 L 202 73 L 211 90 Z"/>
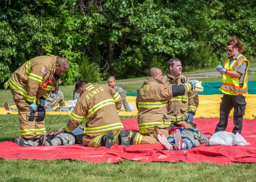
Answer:
<path fill-rule="evenodd" d="M 221 81 L 221 77 L 198 79 Z M 249 80 L 256 80 L 254 74 Z M 119 84 L 128 93 L 136 92 L 141 83 Z M 74 86 L 60 86 L 65 100 L 72 100 Z M 14 104 L 10 90 L 0 90 L 0 105 Z M 68 116 L 46 115 L 46 130 L 62 128 Z M 129 117 L 121 116 L 121 119 Z M 135 117 L 136 118 L 136 117 Z M 136 118 L 137 119 L 137 118 Z M 0 142 L 14 141 L 20 135 L 18 115 L 0 115 Z M 0 159 L 0 181 L 138 181 L 138 182 L 255 182 L 256 164 L 216 165 L 208 163 L 138 162 L 124 160 L 116 164 L 92 164 L 79 160 L 3 160 Z"/>

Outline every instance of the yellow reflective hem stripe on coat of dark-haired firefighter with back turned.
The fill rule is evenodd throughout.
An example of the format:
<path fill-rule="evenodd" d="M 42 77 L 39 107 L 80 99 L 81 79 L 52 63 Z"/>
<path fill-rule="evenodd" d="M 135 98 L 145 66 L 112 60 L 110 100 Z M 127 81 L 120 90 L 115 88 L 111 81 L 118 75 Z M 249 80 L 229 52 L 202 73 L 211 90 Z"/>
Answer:
<path fill-rule="evenodd" d="M 116 130 L 120 128 L 124 128 L 122 123 L 114 123 L 111 125 L 104 125 L 99 127 L 86 127 L 84 128 L 84 133 L 99 133 L 104 131 Z"/>

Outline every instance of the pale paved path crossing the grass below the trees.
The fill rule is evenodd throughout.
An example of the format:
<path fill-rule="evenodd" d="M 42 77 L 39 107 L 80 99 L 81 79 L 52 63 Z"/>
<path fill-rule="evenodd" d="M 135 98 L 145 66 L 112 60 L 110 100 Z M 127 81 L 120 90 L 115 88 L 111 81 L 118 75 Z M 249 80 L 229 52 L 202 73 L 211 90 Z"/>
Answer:
<path fill-rule="evenodd" d="M 256 67 L 248 68 L 248 70 L 252 73 L 256 73 Z M 186 74 L 186 76 L 189 76 L 190 79 L 198 79 L 198 78 L 212 78 L 215 76 L 221 76 L 219 72 L 213 71 L 213 72 L 202 72 L 202 73 L 194 73 L 194 74 Z M 146 79 L 146 77 L 145 77 Z M 116 82 L 116 84 L 126 84 L 126 83 L 137 83 L 137 82 L 143 82 L 142 80 L 127 80 L 122 82 Z"/>

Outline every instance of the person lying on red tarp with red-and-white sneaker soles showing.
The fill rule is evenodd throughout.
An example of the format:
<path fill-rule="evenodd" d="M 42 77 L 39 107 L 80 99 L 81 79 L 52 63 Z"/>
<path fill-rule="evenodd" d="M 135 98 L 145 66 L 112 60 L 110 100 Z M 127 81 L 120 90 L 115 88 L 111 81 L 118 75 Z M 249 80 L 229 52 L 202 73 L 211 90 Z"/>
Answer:
<path fill-rule="evenodd" d="M 201 143 L 207 143 L 206 137 L 198 128 L 185 128 L 184 125 L 170 125 L 169 135 L 158 134 L 159 142 L 168 151 L 179 151 L 199 147 Z"/>

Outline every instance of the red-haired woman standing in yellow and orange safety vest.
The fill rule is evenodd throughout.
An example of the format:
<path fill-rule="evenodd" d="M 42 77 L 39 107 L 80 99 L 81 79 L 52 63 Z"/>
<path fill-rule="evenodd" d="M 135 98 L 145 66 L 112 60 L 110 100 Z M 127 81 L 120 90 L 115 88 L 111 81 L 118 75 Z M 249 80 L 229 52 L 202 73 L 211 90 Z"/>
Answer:
<path fill-rule="evenodd" d="M 223 65 L 218 65 L 216 70 L 222 74 L 222 84 L 220 91 L 223 92 L 220 104 L 220 121 L 216 126 L 217 131 L 225 131 L 228 125 L 228 115 L 234 108 L 234 128 L 232 133 L 241 133 L 243 125 L 243 115 L 245 113 L 245 97 L 248 96 L 248 76 L 247 70 L 249 61 L 241 54 L 244 45 L 237 39 L 231 39 L 227 43 L 226 57 Z"/>

